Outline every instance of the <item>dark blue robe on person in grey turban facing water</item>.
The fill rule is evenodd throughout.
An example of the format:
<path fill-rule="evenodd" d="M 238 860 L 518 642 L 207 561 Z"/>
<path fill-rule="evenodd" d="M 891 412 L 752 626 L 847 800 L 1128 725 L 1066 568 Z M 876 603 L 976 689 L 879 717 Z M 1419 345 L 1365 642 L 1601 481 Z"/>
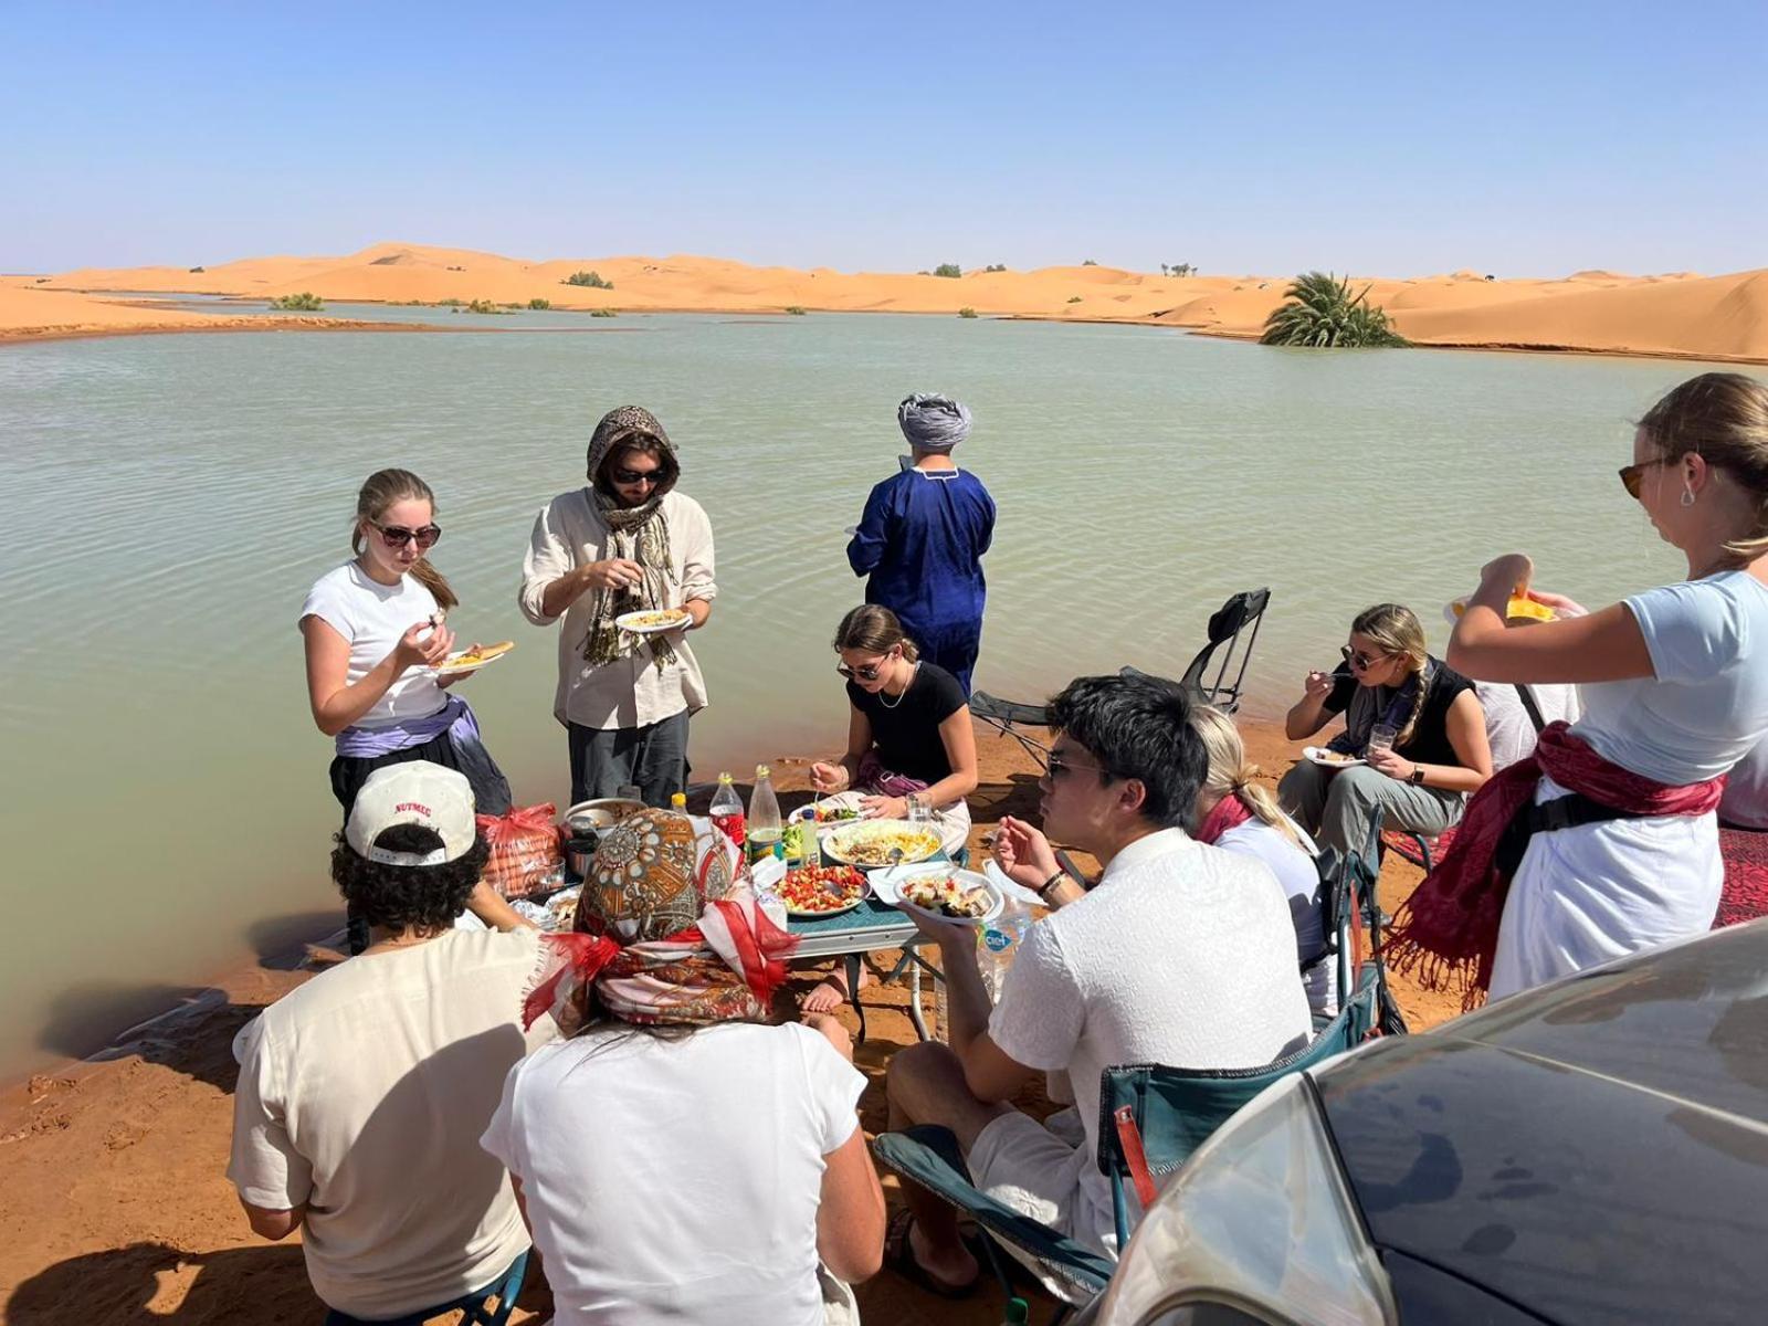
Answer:
<path fill-rule="evenodd" d="M 866 603 L 895 612 L 921 658 L 956 677 L 965 695 L 983 638 L 981 559 L 994 518 L 994 499 L 974 474 L 903 470 L 872 490 L 847 545 L 854 575 L 870 576 Z"/>

